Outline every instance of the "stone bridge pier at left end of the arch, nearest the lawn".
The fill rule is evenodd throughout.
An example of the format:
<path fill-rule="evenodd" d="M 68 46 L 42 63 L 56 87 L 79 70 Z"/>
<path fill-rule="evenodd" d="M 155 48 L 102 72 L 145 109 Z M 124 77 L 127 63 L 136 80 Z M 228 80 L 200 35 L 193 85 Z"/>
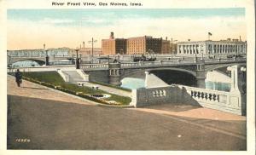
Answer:
<path fill-rule="evenodd" d="M 120 63 L 110 63 L 108 65 L 108 70 L 109 70 L 108 83 L 120 86 L 121 85 L 121 64 Z"/>

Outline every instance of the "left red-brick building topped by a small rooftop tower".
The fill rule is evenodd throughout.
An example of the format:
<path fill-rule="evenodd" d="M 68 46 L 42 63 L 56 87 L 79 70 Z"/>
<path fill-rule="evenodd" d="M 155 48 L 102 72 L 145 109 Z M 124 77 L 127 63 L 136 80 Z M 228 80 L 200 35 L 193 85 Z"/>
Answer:
<path fill-rule="evenodd" d="M 103 55 L 115 55 L 115 54 L 126 54 L 126 39 L 114 38 L 113 32 L 109 39 L 102 39 L 102 54 Z"/>

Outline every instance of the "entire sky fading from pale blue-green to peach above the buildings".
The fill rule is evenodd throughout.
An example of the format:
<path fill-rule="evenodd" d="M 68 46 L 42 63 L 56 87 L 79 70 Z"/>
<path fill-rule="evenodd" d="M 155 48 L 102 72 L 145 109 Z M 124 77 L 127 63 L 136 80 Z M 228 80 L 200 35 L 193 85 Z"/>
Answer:
<path fill-rule="evenodd" d="M 8 9 L 8 49 L 75 48 L 115 37 L 246 38 L 245 9 Z M 90 46 L 90 44 L 86 44 Z"/>

